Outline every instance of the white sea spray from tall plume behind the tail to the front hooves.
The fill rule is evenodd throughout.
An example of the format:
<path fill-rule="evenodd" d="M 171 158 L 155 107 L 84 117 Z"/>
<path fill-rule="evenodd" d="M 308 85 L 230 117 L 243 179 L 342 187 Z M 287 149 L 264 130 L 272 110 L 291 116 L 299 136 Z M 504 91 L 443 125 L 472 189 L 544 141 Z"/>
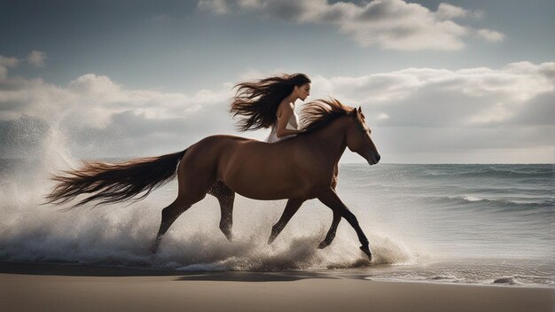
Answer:
<path fill-rule="evenodd" d="M 122 265 L 171 269 L 325 269 L 370 265 L 358 250 L 356 233 L 347 222 L 332 246 L 317 249 L 332 214 L 329 208 L 307 203 L 271 246 L 270 229 L 285 207 L 285 200 L 256 201 L 238 196 L 235 204 L 234 240 L 218 229 L 219 206 L 208 197 L 185 212 L 163 238 L 160 252 L 148 246 L 160 224 L 160 212 L 176 196 L 176 181 L 137 203 L 67 212 L 66 206 L 43 205 L 51 190 L 49 177 L 80 164 L 69 149 L 59 122 L 52 121 L 40 148 L 22 160 L 3 160 L 0 190 L 0 260 L 47 261 Z M 378 263 L 410 259 L 406 247 L 394 240 L 375 241 L 367 231 Z"/>

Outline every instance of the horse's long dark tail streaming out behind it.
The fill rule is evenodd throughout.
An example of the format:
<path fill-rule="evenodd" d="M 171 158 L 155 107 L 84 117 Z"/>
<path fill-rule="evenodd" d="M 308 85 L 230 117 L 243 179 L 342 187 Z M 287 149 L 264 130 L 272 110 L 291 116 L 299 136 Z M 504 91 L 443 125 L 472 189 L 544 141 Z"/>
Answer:
<path fill-rule="evenodd" d="M 117 203 L 142 192 L 145 193 L 135 200 L 144 199 L 176 175 L 177 164 L 186 151 L 116 164 L 83 161 L 82 168 L 51 177 L 58 184 L 46 196 L 46 203 L 65 203 L 83 193 L 90 195 L 71 208 L 90 201 L 98 201 L 97 205 Z"/>

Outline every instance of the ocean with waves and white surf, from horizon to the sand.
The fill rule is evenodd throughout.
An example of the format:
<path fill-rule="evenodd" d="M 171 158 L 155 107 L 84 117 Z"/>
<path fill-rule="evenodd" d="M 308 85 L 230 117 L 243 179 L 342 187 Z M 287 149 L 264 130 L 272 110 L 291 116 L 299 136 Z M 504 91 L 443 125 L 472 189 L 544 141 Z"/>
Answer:
<path fill-rule="evenodd" d="M 69 162 L 72 166 L 75 163 Z M 42 205 L 67 163 L 0 160 L 0 261 L 183 271 L 308 272 L 332 278 L 555 286 L 554 165 L 341 164 L 337 192 L 370 240 L 369 262 L 344 220 L 317 249 L 332 212 L 309 200 L 272 245 L 285 200 L 236 197 L 229 242 L 207 196 L 148 246 L 176 180 L 138 202 Z"/>

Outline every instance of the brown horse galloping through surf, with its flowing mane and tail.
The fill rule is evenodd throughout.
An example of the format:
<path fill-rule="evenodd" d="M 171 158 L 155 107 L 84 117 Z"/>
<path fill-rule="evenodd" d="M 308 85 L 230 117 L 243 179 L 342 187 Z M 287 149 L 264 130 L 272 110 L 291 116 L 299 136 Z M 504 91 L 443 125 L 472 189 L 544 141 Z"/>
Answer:
<path fill-rule="evenodd" d="M 356 230 L 371 259 L 368 239 L 355 214 L 341 202 L 337 184 L 338 161 L 348 147 L 370 165 L 379 162 L 379 153 L 364 122 L 361 108 L 340 104 L 335 99 L 307 103 L 301 112 L 302 135 L 267 144 L 238 136 L 208 136 L 183 152 L 119 164 L 87 163 L 79 170 L 57 175 L 50 203 L 63 203 L 82 193 L 89 194 L 73 207 L 90 201 L 98 204 L 121 202 L 166 183 L 177 173 L 177 198 L 162 210 L 160 230 L 152 243 L 155 253 L 162 236 L 177 217 L 206 194 L 218 199 L 220 229 L 231 240 L 235 193 L 250 199 L 289 199 L 279 221 L 272 227 L 269 244 L 307 199 L 319 199 L 333 211 L 333 221 L 319 248 L 332 243 L 341 217 Z"/>

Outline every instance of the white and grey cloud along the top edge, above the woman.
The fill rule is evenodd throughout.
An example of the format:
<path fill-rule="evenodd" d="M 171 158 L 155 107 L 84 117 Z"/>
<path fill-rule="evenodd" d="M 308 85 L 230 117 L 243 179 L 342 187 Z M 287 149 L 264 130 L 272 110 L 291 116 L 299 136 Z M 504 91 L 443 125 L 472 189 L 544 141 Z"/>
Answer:
<path fill-rule="evenodd" d="M 217 15 L 247 12 L 299 24 L 332 24 L 363 47 L 378 46 L 385 50 L 455 51 L 465 47 L 463 40 L 471 34 L 489 42 L 504 39 L 503 34 L 494 30 L 474 30 L 453 21 L 479 19 L 483 13 L 451 4 L 440 4 L 434 12 L 403 0 L 363 4 L 343 1 L 329 4 L 327 0 L 201 0 L 198 8 Z"/>

